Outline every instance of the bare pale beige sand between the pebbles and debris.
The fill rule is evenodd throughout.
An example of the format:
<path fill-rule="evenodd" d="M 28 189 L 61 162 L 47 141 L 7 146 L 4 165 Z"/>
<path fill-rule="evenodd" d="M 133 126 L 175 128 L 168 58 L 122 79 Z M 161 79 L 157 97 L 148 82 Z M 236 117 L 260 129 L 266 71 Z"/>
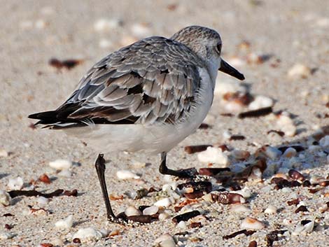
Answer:
<path fill-rule="evenodd" d="M 0 5 L 0 148 L 9 154 L 0 157 L 0 190 L 10 190 L 9 179 L 18 176 L 27 190 L 28 183 L 42 174 L 48 174 L 52 182 L 37 183 L 38 191 L 78 190 L 78 197 L 53 197 L 45 205 L 38 205 L 36 197 L 16 197 L 12 205 L 0 205 L 0 232 L 14 234 L 10 239 L 0 239 L 0 246 L 45 243 L 55 246 L 61 241 L 62 246 L 69 246 L 73 234 L 85 227 L 119 230 L 120 234 L 80 246 L 153 246 L 162 234 L 174 236 L 179 232 L 186 233 L 176 237 L 177 246 L 248 246 L 253 240 L 258 246 L 266 246 L 265 235 L 273 230 L 287 230 L 274 246 L 328 246 L 329 212 L 318 211 L 318 204 L 328 202 L 325 197 L 328 187 L 314 194 L 302 187 L 274 190 L 274 186 L 269 185 L 270 172 L 263 183 L 241 184 L 251 190 L 246 204 L 251 211 L 247 213 L 236 213 L 230 205 L 204 205 L 200 199 L 199 207 L 209 218 L 201 228 L 191 228 L 189 223 L 186 228 L 179 228 L 172 222 L 172 216 L 178 214 L 174 213 L 173 206 L 169 207 L 172 216 L 164 221 L 155 220 L 139 227 L 108 223 L 93 165 L 97 153 L 62 132 L 33 129 L 34 121 L 27 118 L 31 113 L 59 106 L 87 69 L 110 52 L 137 38 L 172 36 L 182 27 L 200 24 L 221 34 L 223 57 L 228 62 L 235 58 L 237 63 L 239 59 L 236 67 L 244 73 L 251 94 L 274 99 L 274 111 L 291 113 L 297 133 L 270 138 L 267 132 L 276 129 L 276 125 L 269 116 L 225 117 L 221 113 L 228 111 L 220 103 L 221 96 L 216 95 L 208 118 L 211 128 L 198 129 L 176 146 L 168 155 L 169 167 L 207 167 L 197 160 L 196 154 L 184 152 L 183 147 L 187 145 L 226 143 L 250 153 L 265 144 L 309 146 L 309 136 L 329 125 L 328 1 L 1 1 Z M 104 19 L 111 22 L 101 22 L 95 29 L 94 24 Z M 267 55 L 269 59 L 246 62 L 251 53 Z M 52 57 L 83 62 L 73 69 L 59 70 L 48 64 Z M 306 78 L 298 75 L 288 78 L 287 73 L 295 64 L 303 64 L 311 72 L 304 76 Z M 218 76 L 218 82 L 230 80 L 223 74 Z M 246 139 L 225 140 L 223 133 L 228 129 Z M 298 156 L 301 165 L 297 168 L 305 176 L 328 176 L 328 147 L 302 154 Z M 158 172 L 158 157 L 125 153 L 105 154 L 105 157 L 110 193 L 123 195 L 127 190 L 161 188 L 168 183 Z M 57 159 L 73 161 L 72 176 L 59 176 L 48 166 Z M 136 161 L 147 165 L 137 167 Z M 119 181 L 116 171 L 120 169 L 135 171 L 141 179 Z M 295 213 L 295 206 L 287 206 L 286 202 L 296 197 L 304 200 L 309 212 Z M 151 205 L 153 199 L 150 196 L 133 200 L 125 196 L 112 204 L 113 209 L 120 212 L 128 205 Z M 264 213 L 269 204 L 279 209 L 274 215 Z M 29 205 L 34 209 L 42 207 L 46 212 L 31 213 Z M 3 216 L 6 213 L 13 216 Z M 70 215 L 73 215 L 71 228 L 55 228 L 57 220 Z M 223 240 L 224 235 L 241 230 L 241 222 L 247 216 L 258 218 L 265 228 L 248 237 L 239 235 Z M 316 227 L 294 236 L 292 233 L 301 220 L 315 220 Z M 12 228 L 5 229 L 5 224 Z"/>

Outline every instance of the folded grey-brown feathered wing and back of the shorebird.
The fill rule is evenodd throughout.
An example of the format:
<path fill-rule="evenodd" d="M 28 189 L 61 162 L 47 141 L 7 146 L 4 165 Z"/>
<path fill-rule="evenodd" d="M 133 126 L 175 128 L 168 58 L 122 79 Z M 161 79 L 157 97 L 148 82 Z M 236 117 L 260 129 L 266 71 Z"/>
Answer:
<path fill-rule="evenodd" d="M 197 66 L 204 65 L 185 45 L 146 38 L 95 64 L 56 111 L 68 122 L 175 122 L 194 101 Z"/>

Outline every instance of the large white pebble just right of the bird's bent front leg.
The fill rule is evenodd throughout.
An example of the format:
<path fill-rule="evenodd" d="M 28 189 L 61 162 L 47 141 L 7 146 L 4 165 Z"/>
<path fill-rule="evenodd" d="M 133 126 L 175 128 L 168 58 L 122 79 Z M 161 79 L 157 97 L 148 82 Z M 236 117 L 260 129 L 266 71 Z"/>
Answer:
<path fill-rule="evenodd" d="M 207 150 L 198 153 L 197 158 L 202 163 L 216 163 L 221 167 L 228 167 L 230 164 L 228 155 L 225 155 L 220 148 L 208 147 Z"/>

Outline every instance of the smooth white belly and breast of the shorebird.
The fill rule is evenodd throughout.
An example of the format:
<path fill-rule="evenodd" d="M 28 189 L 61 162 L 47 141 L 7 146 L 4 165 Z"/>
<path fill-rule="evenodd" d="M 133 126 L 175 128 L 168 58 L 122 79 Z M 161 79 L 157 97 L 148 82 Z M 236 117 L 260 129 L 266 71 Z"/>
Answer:
<path fill-rule="evenodd" d="M 64 131 L 86 141 L 99 153 L 143 151 L 158 154 L 168 152 L 177 143 L 195 132 L 207 116 L 214 98 L 218 61 L 211 64 L 208 71 L 199 69 L 201 85 L 195 104 L 187 118 L 174 125 L 156 122 L 153 125 L 90 125 L 64 129 Z"/>

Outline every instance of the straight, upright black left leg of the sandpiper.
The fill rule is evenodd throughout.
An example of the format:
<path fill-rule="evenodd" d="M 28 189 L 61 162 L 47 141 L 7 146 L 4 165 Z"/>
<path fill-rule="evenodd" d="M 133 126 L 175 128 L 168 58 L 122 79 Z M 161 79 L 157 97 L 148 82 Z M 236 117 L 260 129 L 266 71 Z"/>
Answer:
<path fill-rule="evenodd" d="M 104 176 L 105 160 L 104 160 L 103 154 L 98 155 L 97 160 L 94 163 L 94 167 L 96 167 L 98 180 L 99 180 L 99 183 L 101 184 L 102 194 L 103 194 L 103 198 L 104 198 L 104 202 L 105 202 L 105 206 L 106 206 L 107 218 L 112 222 L 119 223 L 120 220 L 118 219 L 118 217 L 116 217 L 116 215 L 112 211 L 109 194 L 108 194 L 107 188 L 106 188 L 106 182 L 105 182 L 105 176 Z"/>

